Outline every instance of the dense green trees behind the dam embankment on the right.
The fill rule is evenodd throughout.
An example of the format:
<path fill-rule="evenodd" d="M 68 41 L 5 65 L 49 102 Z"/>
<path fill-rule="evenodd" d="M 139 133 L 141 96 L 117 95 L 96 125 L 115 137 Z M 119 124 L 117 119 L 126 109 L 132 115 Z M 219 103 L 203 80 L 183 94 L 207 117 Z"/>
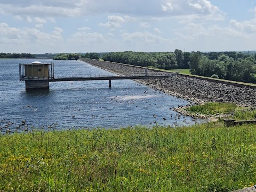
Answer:
<path fill-rule="evenodd" d="M 193 75 L 256 83 L 256 54 L 242 52 L 110 52 L 103 60 L 159 69 L 190 69 Z"/>

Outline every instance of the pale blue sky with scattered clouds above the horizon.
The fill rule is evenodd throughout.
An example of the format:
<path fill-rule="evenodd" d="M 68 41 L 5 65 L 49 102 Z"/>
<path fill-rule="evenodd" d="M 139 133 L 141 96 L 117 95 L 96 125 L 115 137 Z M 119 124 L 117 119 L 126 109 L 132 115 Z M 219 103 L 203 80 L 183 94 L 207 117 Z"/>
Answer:
<path fill-rule="evenodd" d="M 256 0 L 0 0 L 0 52 L 256 50 Z"/>

